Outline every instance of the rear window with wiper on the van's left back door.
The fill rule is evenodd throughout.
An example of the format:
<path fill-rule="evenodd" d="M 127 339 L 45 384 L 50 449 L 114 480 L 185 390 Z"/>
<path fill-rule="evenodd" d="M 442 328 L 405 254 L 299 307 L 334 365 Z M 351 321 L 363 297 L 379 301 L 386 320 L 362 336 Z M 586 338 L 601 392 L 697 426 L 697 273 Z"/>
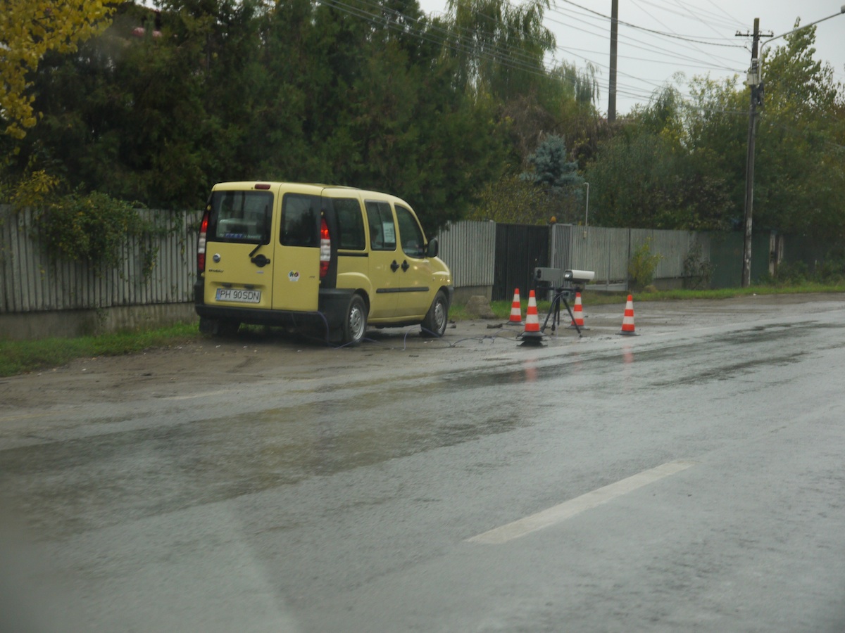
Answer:
<path fill-rule="evenodd" d="M 270 192 L 213 192 L 208 239 L 269 244 L 272 208 Z"/>

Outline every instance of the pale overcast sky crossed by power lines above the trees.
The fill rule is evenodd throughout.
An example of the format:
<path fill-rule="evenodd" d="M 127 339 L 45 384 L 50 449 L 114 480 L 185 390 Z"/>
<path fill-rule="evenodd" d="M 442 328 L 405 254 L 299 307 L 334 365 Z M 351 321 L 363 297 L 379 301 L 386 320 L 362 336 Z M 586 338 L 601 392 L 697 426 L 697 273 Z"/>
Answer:
<path fill-rule="evenodd" d="M 624 114 L 636 103 L 647 103 L 655 89 L 673 83 L 673 75 L 679 72 L 688 78 L 738 73 L 744 80 L 751 38 L 737 37 L 737 31 L 752 32 L 754 19 L 760 18 L 762 33 L 781 35 L 793 29 L 796 18 L 808 24 L 839 14 L 842 2 L 845 0 L 619 0 L 616 111 Z M 579 68 L 591 62 L 597 68 L 598 106 L 606 112 L 611 0 L 552 3 L 545 24 L 557 37 L 555 60 L 575 62 Z M 420 6 L 428 14 L 445 12 L 446 0 L 420 0 Z M 771 47 L 783 41 L 773 41 Z M 815 47 L 816 58 L 830 62 L 837 81 L 845 83 L 845 14 L 818 24 Z M 683 92 L 685 82 L 679 88 Z"/>

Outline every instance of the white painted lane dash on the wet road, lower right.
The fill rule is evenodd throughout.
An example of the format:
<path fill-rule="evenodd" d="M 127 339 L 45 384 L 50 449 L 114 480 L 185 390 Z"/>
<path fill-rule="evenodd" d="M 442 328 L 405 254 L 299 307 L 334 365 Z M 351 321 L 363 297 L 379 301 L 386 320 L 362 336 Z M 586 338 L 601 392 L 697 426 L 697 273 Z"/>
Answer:
<path fill-rule="evenodd" d="M 626 479 L 620 479 L 614 484 L 608 484 L 603 488 L 598 488 L 586 495 L 575 497 L 569 501 L 558 506 L 552 506 L 548 510 L 537 512 L 530 517 L 519 519 L 518 521 L 507 523 L 500 527 L 494 527 L 488 532 L 477 534 L 472 538 L 467 538 L 469 543 L 482 543 L 488 545 L 499 545 L 507 543 L 513 538 L 520 538 L 526 534 L 542 530 L 543 527 L 548 527 L 575 517 L 583 511 L 590 510 L 596 506 L 601 506 L 602 503 L 607 503 L 618 496 L 625 495 L 632 490 L 641 488 L 644 485 L 651 484 L 658 479 L 663 479 L 671 474 L 679 473 L 682 470 L 694 466 L 695 462 L 686 460 L 677 460 L 674 462 L 664 463 L 657 468 L 651 470 L 644 470 L 642 473 L 631 475 Z"/>

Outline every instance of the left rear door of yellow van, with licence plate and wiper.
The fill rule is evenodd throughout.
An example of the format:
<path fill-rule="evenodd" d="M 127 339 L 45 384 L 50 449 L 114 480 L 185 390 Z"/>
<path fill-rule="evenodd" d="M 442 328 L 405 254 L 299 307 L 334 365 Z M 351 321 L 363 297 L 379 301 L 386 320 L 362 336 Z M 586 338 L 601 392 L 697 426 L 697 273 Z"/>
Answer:
<path fill-rule="evenodd" d="M 260 186 L 257 186 L 260 187 Z M 213 306 L 270 308 L 274 194 L 226 184 L 211 192 L 206 234 L 204 302 Z"/>

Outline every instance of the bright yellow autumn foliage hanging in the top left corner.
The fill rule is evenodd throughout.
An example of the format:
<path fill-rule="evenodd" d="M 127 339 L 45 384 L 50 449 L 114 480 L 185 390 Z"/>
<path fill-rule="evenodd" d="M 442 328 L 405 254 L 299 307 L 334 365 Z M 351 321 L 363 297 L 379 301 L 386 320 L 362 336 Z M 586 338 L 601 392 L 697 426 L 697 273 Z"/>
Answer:
<path fill-rule="evenodd" d="M 47 51 L 76 51 L 80 42 L 101 33 L 125 0 L 4 0 L 0 12 L 0 133 L 24 138 L 36 122 L 27 75 Z"/>

